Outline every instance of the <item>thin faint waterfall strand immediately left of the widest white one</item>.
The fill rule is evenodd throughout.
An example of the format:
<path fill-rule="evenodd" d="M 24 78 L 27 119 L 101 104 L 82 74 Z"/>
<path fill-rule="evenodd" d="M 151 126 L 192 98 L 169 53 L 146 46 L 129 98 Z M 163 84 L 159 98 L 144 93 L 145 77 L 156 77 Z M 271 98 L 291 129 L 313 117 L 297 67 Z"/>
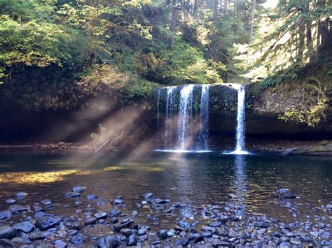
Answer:
<path fill-rule="evenodd" d="M 176 86 L 167 87 L 166 94 L 166 111 L 165 111 L 165 147 L 167 149 L 172 145 L 172 129 L 174 122 L 174 101 Z"/>

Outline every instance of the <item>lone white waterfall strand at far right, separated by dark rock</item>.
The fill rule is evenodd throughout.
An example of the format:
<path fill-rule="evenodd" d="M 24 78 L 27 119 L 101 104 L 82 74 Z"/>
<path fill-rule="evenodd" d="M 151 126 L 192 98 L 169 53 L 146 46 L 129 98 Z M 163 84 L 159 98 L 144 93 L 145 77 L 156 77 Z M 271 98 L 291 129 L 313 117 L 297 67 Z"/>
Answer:
<path fill-rule="evenodd" d="M 237 85 L 237 126 L 236 126 L 236 147 L 233 154 L 247 154 L 248 152 L 244 149 L 244 138 L 245 138 L 245 90 L 244 86 Z"/>

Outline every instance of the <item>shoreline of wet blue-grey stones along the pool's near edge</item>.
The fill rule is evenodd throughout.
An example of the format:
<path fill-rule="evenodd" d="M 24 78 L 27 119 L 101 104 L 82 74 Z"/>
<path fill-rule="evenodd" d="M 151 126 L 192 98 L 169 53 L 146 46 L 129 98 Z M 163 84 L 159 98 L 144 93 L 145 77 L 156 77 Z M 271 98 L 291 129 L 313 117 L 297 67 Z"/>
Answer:
<path fill-rule="evenodd" d="M 7 199 L 8 210 L 0 212 L 0 247 L 331 247 L 332 202 L 312 206 L 311 217 L 282 223 L 255 212 L 246 212 L 241 194 L 229 194 L 221 205 L 194 206 L 172 203 L 146 193 L 136 207 L 118 196 L 108 206 L 86 187 L 73 187 L 65 194 L 68 205 L 45 199 L 25 203 L 25 192 Z M 294 194 L 275 192 L 277 200 L 296 217 Z M 85 205 L 83 201 L 88 200 Z M 231 200 L 234 200 L 232 202 Z M 307 203 L 309 204 L 309 203 Z M 74 208 L 68 216 L 50 214 L 55 209 Z M 106 210 L 107 207 L 110 207 Z M 319 215 L 324 211 L 327 217 Z M 311 219 L 310 219 L 311 218 Z M 314 221 L 312 221 L 312 218 Z"/>

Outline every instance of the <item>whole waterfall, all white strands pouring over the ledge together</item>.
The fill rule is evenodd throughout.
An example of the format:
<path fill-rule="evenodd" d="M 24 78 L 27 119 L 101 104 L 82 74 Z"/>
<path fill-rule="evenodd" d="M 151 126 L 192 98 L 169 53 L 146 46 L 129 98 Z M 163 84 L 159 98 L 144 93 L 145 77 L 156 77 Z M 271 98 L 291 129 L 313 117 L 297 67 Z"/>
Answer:
<path fill-rule="evenodd" d="M 183 85 L 158 89 L 158 131 L 160 112 L 163 112 L 160 104 L 165 109 L 163 151 L 209 152 L 209 87 Z M 236 147 L 231 154 L 248 154 L 244 148 L 245 89 L 238 84 L 228 84 L 226 87 L 237 90 Z"/>

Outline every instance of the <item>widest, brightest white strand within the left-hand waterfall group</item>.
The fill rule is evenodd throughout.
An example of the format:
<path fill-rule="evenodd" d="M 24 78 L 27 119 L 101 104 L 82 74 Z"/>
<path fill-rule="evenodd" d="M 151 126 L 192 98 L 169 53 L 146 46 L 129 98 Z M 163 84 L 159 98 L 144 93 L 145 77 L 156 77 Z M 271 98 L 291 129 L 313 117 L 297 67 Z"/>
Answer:
<path fill-rule="evenodd" d="M 191 117 L 193 106 L 193 89 L 195 85 L 185 85 L 180 91 L 178 142 L 177 149 L 186 149 L 186 138 L 188 133 L 188 120 Z"/>

